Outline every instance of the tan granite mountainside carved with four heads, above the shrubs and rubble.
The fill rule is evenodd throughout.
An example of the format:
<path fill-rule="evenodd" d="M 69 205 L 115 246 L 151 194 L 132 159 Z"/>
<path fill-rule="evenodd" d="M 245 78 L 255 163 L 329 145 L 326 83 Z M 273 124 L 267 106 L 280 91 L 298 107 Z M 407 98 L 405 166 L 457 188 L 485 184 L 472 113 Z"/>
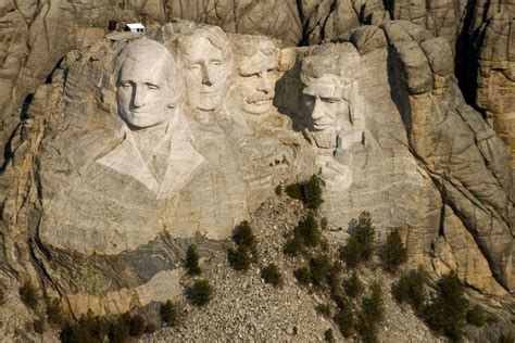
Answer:
<path fill-rule="evenodd" d="M 412 265 L 513 301 L 510 158 L 449 42 L 390 21 L 281 47 L 175 21 L 68 52 L 11 135 L 1 278 L 75 315 L 173 298 L 189 244 L 212 256 L 276 186 L 315 174 L 330 226 L 368 211 L 379 240 L 405 228 Z"/>

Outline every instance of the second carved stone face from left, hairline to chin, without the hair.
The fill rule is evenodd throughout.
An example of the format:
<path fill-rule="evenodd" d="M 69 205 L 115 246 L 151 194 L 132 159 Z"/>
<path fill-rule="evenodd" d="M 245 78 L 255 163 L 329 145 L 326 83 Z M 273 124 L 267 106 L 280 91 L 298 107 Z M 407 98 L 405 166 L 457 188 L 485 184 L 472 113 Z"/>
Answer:
<path fill-rule="evenodd" d="M 181 56 L 188 88 L 188 102 L 210 111 L 221 105 L 226 92 L 230 67 L 221 49 L 204 37 L 190 37 Z"/>

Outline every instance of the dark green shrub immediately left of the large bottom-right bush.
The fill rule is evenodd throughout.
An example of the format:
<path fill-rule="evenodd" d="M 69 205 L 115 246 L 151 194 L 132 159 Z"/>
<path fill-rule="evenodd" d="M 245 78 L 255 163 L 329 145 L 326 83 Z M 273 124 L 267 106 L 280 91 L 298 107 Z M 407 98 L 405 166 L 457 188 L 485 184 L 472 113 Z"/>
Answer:
<path fill-rule="evenodd" d="M 426 304 L 425 284 L 427 275 L 420 266 L 417 270 L 411 270 L 403 275 L 391 291 L 393 298 L 399 303 L 409 303 L 415 313 L 420 314 Z"/>

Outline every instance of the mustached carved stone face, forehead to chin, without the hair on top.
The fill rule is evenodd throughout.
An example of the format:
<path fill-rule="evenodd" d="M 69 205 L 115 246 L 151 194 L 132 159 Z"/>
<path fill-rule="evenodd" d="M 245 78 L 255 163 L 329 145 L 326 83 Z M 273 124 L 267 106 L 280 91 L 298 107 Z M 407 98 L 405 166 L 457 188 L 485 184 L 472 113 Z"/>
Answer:
<path fill-rule="evenodd" d="M 259 115 L 273 110 L 277 65 L 275 53 L 259 52 L 239 67 L 236 97 L 243 112 Z"/>

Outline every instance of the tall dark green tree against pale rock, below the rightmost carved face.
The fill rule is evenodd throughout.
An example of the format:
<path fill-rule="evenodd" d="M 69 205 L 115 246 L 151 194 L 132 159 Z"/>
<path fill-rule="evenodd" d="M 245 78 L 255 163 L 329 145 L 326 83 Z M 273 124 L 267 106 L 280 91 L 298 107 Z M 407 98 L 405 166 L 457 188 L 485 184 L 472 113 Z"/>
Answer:
<path fill-rule="evenodd" d="M 362 212 L 357 220 L 349 224 L 350 237 L 341 250 L 341 258 L 349 268 L 372 259 L 375 247 L 375 227 L 368 212 Z"/>

